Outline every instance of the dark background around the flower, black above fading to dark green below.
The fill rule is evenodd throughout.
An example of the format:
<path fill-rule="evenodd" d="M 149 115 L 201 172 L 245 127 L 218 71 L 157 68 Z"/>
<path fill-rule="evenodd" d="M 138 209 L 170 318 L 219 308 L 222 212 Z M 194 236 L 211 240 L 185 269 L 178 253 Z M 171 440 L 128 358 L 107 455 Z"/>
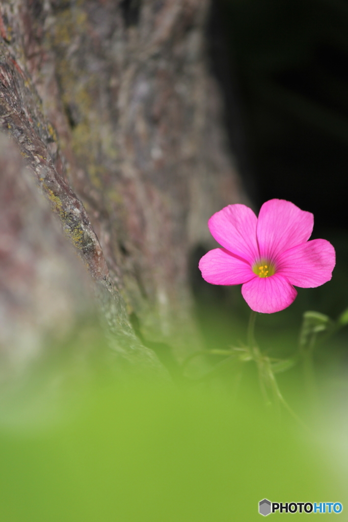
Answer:
<path fill-rule="evenodd" d="M 281 198 L 313 212 L 312 239 L 329 240 L 337 253 L 331 281 L 297 289 L 282 312 L 259 314 L 261 348 L 291 353 L 303 312 L 337 318 L 348 306 L 348 2 L 213 0 L 208 42 L 230 146 L 255 210 Z M 197 264 L 205 252 L 193 256 L 192 274 L 207 346 L 243 343 L 249 309 L 240 286 L 203 281 Z M 318 349 L 317 364 L 346 365 L 346 330 Z"/>

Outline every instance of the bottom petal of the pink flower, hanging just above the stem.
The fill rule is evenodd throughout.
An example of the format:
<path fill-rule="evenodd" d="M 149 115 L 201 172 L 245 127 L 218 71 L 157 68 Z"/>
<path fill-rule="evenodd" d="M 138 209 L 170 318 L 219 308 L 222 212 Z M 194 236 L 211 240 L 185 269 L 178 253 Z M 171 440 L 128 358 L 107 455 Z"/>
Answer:
<path fill-rule="evenodd" d="M 272 314 L 280 312 L 295 300 L 296 290 L 281 274 L 256 277 L 242 286 L 242 295 L 251 310 Z"/>

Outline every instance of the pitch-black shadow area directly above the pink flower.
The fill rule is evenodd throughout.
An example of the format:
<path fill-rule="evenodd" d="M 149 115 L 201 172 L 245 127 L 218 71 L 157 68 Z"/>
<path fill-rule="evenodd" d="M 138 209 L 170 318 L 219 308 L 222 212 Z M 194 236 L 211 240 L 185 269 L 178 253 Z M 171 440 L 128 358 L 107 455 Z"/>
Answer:
<path fill-rule="evenodd" d="M 248 192 L 348 229 L 348 3 L 214 0 L 211 63 Z"/>

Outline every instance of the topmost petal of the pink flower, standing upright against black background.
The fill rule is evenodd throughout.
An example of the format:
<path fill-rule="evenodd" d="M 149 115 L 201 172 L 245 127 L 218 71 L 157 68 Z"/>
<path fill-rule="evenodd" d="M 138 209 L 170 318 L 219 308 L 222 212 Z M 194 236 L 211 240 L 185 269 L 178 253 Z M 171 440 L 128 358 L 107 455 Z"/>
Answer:
<path fill-rule="evenodd" d="M 263 203 L 257 222 L 260 257 L 277 260 L 284 250 L 304 243 L 313 231 L 314 216 L 290 201 L 270 199 Z"/>

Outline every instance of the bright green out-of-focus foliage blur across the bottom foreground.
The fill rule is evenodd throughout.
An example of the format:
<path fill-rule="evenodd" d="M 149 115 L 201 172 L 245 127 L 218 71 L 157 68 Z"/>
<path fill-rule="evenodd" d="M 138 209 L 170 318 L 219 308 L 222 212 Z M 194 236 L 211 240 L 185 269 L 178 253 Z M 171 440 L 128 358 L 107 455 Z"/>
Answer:
<path fill-rule="evenodd" d="M 101 381 L 70 388 L 55 420 L 51 403 L 40 426 L 2 425 L 2 520 L 230 522 L 256 520 L 265 497 L 346 505 L 347 455 L 318 420 L 313 432 L 280 422 L 250 389 L 234 404 L 216 390 Z M 326 517 L 345 520 L 344 508 Z"/>

